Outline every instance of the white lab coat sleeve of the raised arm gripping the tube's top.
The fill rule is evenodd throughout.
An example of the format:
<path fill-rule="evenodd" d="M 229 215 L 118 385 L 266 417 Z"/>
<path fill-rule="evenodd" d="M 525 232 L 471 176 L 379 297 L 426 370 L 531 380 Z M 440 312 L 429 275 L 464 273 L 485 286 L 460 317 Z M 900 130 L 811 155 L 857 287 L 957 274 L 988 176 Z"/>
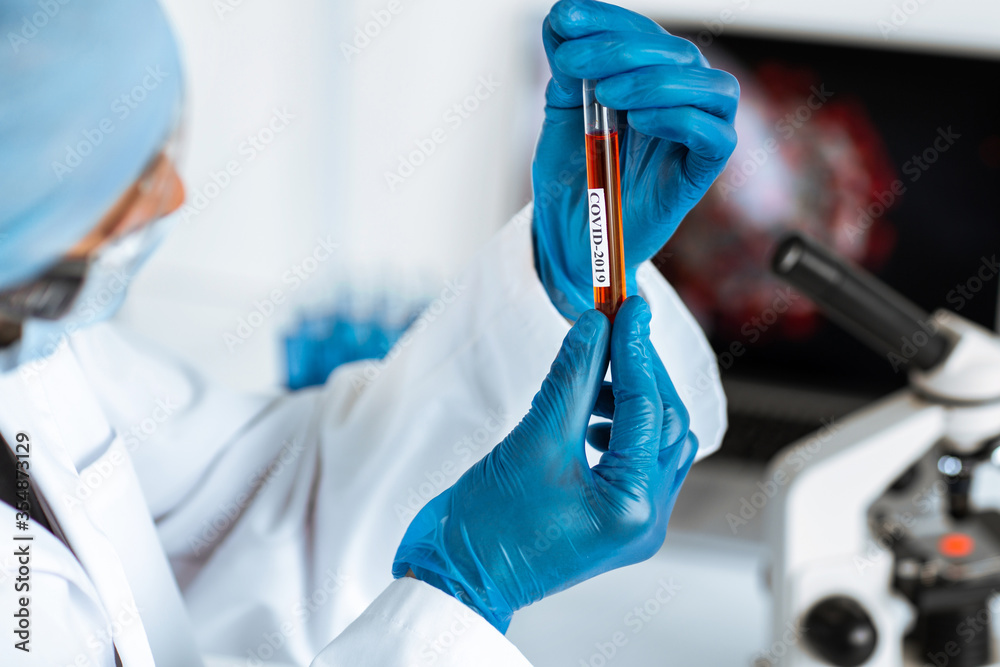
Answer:
<path fill-rule="evenodd" d="M 387 618 L 409 619 L 399 627 L 421 636 L 434 637 L 434 623 L 449 627 L 440 610 L 459 603 L 392 583 L 392 559 L 420 508 L 524 416 L 569 331 L 535 271 L 530 211 L 442 283 L 386 359 L 342 366 L 323 387 L 243 396 L 108 327 L 79 336 L 204 650 L 254 654 L 280 631 L 274 659 L 307 664 L 350 627 L 330 655 L 362 661 L 390 650 L 361 639 L 384 636 Z M 703 457 L 725 428 L 714 355 L 655 269 L 638 280 Z M 388 611 L 397 603 L 405 614 Z M 308 613 L 296 613 L 303 605 Z M 521 664 L 487 662 L 517 653 L 486 630 L 492 639 L 463 642 L 478 650 L 465 664 Z M 400 656 L 418 641 L 401 632 L 391 638 Z"/>

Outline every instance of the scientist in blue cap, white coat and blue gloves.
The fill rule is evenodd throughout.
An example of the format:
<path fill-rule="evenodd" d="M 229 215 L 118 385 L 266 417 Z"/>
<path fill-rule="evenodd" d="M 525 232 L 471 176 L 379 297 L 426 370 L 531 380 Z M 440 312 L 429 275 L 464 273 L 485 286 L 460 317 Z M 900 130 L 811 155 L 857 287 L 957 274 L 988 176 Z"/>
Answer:
<path fill-rule="evenodd" d="M 711 350 L 641 268 L 736 141 L 737 85 L 693 45 L 557 3 L 531 225 L 377 377 L 251 396 L 102 323 L 184 198 L 160 8 L 6 0 L 0 27 L 0 663 L 525 665 L 518 608 L 660 547 L 725 420 Z M 613 329 L 588 310 L 581 77 L 628 110 L 644 298 Z"/>

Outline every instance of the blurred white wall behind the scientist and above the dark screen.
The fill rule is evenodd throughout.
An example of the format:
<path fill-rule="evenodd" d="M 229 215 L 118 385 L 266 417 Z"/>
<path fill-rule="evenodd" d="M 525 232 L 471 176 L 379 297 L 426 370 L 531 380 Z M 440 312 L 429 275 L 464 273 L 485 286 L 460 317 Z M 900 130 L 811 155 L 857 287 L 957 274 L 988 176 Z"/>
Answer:
<path fill-rule="evenodd" d="M 392 273 L 440 282 L 527 201 L 545 77 L 538 35 L 548 0 L 396 0 L 395 14 L 387 0 L 164 2 L 188 63 L 182 173 L 192 199 L 206 186 L 217 196 L 151 261 L 121 317 L 210 375 L 247 389 L 279 385 L 278 337 L 299 306 L 336 291 L 345 278 L 370 284 Z M 227 3 L 232 11 L 220 13 Z M 627 6 L 697 30 L 765 29 L 1000 53 L 997 2 Z M 391 20 L 360 53 L 345 55 L 341 45 L 379 16 Z M 886 26 L 898 29 L 883 36 Z M 474 94 L 481 78 L 499 87 L 461 124 L 449 123 L 445 113 Z M 249 160 L 242 142 L 266 128 L 275 109 L 294 119 Z M 443 143 L 390 190 L 385 172 L 438 128 Z M 232 160 L 241 171 L 216 192 L 212 173 Z M 327 235 L 338 250 L 295 289 L 283 276 Z M 275 290 L 285 302 L 267 318 L 253 316 L 263 323 L 245 342 L 227 345 L 225 334 L 236 336 L 240 319 Z"/>

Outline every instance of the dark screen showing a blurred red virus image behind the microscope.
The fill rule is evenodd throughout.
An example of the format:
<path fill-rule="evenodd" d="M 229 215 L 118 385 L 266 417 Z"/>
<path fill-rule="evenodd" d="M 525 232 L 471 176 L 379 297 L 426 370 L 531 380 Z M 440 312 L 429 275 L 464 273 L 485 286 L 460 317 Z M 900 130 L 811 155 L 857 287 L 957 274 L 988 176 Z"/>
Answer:
<path fill-rule="evenodd" d="M 739 146 L 655 263 L 723 377 L 871 395 L 905 383 L 769 275 L 789 229 L 928 311 L 995 328 L 1000 60 L 706 34 L 685 36 L 740 82 Z"/>

